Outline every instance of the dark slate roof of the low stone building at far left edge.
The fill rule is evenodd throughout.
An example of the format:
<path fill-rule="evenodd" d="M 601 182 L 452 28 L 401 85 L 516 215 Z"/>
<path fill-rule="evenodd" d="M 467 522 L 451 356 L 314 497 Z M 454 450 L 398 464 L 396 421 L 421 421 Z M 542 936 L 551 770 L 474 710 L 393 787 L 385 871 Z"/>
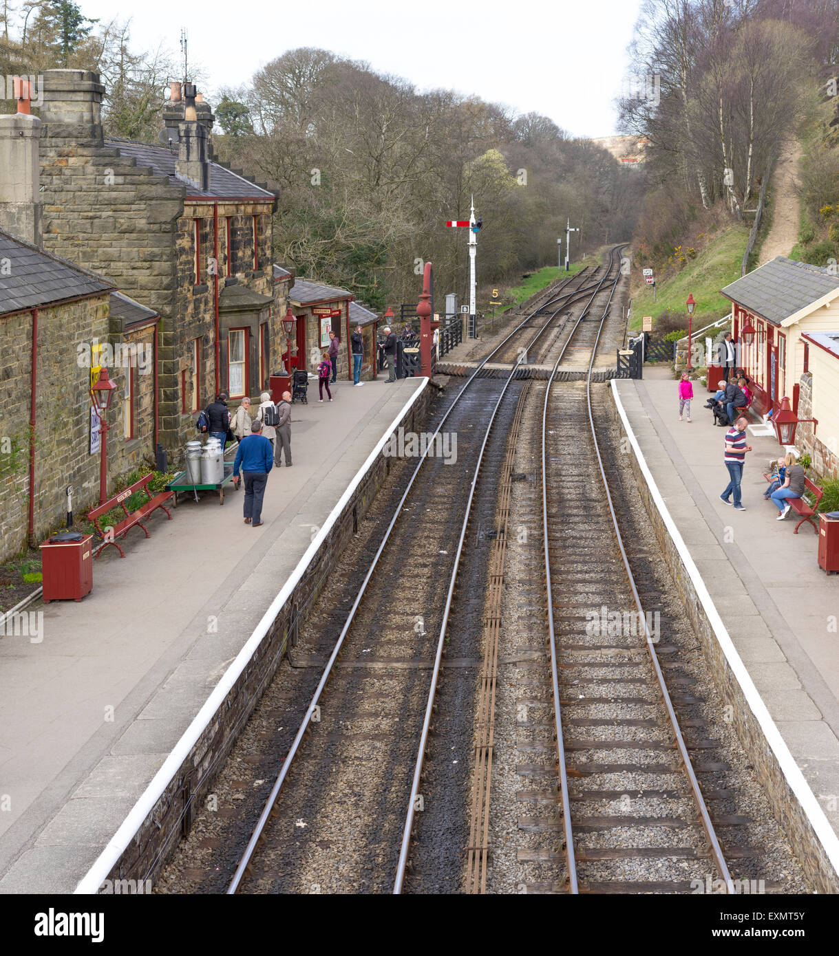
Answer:
<path fill-rule="evenodd" d="M 10 261 L 9 275 L 3 260 Z M 0 315 L 106 293 L 114 284 L 0 232 Z"/>

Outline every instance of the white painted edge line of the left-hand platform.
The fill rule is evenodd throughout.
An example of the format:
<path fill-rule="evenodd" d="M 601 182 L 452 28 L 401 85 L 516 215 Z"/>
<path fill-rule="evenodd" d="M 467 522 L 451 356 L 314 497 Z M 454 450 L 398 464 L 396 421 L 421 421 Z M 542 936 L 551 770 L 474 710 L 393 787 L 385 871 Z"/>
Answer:
<path fill-rule="evenodd" d="M 79 880 L 76 890 L 74 891 L 75 893 L 95 894 L 99 892 L 99 887 L 102 885 L 102 882 L 107 879 L 108 874 L 111 872 L 117 860 L 125 851 L 125 847 L 128 846 L 134 835 L 143 825 L 145 817 L 149 815 L 154 805 L 160 799 L 174 774 L 178 771 L 181 764 L 183 764 L 183 762 L 187 759 L 189 751 L 192 750 L 195 742 L 212 720 L 216 710 L 218 710 L 219 706 L 222 705 L 224 699 L 230 693 L 233 684 L 236 683 L 239 675 L 253 657 L 254 650 L 258 647 L 260 641 L 262 641 L 262 639 L 268 633 L 268 630 L 276 618 L 276 615 L 279 613 L 282 605 L 297 587 L 298 581 L 303 576 L 306 568 L 309 566 L 309 562 L 312 560 L 315 554 L 318 553 L 318 549 L 320 548 L 323 540 L 326 538 L 326 535 L 331 532 L 353 492 L 361 484 L 362 480 L 364 479 L 364 475 L 376 461 L 381 450 L 385 447 L 387 439 L 395 431 L 400 422 L 402 422 L 402 420 L 405 418 L 410 407 L 417 402 L 420 395 L 422 395 L 423 389 L 428 386 L 428 383 L 428 379 L 424 379 L 422 381 L 419 388 L 417 388 L 413 395 L 411 395 L 411 397 L 408 399 L 408 402 L 403 405 L 402 409 L 396 415 L 396 418 L 394 418 L 394 420 L 388 425 L 385 433 L 367 456 L 364 465 L 359 468 L 355 477 L 344 490 L 338 504 L 332 509 L 332 511 L 330 511 L 329 517 L 323 523 L 320 531 L 315 535 L 312 543 L 306 549 L 305 554 L 303 554 L 298 561 L 297 567 L 292 574 L 286 578 L 285 584 L 283 584 L 279 594 L 277 594 L 277 596 L 271 602 L 271 606 L 262 616 L 262 619 L 260 619 L 259 623 L 254 627 L 254 632 L 251 637 L 248 639 L 248 641 L 246 641 L 245 645 L 236 655 L 234 661 L 225 671 L 221 680 L 212 689 L 207 701 L 195 715 L 192 723 L 184 731 L 181 739 L 177 744 L 175 744 L 174 748 L 166 757 L 161 769 L 157 771 L 149 785 L 145 788 L 144 792 L 140 795 L 137 802 L 129 811 L 128 815 L 122 821 L 120 829 L 108 840 L 105 848 L 99 854 L 99 857 L 96 858 L 91 868 L 81 878 L 81 880 Z"/>

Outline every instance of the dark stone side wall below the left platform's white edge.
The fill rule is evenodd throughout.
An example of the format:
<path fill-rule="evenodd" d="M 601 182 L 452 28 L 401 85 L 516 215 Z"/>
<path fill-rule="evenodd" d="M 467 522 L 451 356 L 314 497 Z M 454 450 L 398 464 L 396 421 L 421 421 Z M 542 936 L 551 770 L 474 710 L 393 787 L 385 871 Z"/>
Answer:
<path fill-rule="evenodd" d="M 427 387 L 408 409 L 401 423 L 406 430 L 421 431 L 431 388 Z M 109 879 L 154 880 L 182 834 L 187 834 L 194 808 L 210 793 L 215 774 L 231 750 L 236 733 L 256 706 L 262 689 L 273 677 L 289 642 L 294 643 L 299 623 L 308 615 L 354 526 L 369 510 L 386 478 L 390 459 L 380 454 L 368 468 L 359 487 L 346 503 L 332 531 L 283 605 L 271 630 L 256 648 L 236 684 L 170 779 L 151 812 L 108 874 Z"/>

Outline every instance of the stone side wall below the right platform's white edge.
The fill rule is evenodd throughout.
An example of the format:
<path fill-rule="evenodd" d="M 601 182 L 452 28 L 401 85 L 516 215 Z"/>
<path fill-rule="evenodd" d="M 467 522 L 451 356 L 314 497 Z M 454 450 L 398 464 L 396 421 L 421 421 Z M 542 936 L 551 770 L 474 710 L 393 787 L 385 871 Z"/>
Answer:
<path fill-rule="evenodd" d="M 624 424 L 618 414 L 617 406 L 609 406 L 612 417 L 622 432 Z M 815 835 L 804 808 L 790 787 L 784 771 L 778 763 L 775 751 L 769 746 L 757 717 L 746 700 L 740 682 L 731 669 L 717 640 L 714 627 L 708 618 L 701 598 L 696 593 L 694 582 L 655 500 L 647 479 L 641 470 L 636 454 L 630 456 L 630 465 L 644 506 L 650 516 L 653 532 L 658 540 L 662 557 L 670 569 L 676 593 L 681 598 L 688 619 L 702 644 L 702 650 L 711 666 L 720 693 L 726 705 L 733 707 L 736 715 L 734 728 L 740 744 L 748 756 L 749 763 L 762 783 L 763 792 L 769 799 L 774 814 L 781 824 L 784 835 L 790 842 L 793 852 L 802 864 L 806 877 L 817 893 L 839 892 L 837 875 L 824 852 L 821 842 Z"/>

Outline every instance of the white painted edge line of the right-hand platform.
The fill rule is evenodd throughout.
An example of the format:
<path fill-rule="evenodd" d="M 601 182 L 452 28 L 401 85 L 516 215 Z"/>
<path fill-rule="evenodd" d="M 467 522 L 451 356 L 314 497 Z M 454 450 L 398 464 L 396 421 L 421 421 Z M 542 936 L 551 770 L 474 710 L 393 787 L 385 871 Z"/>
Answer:
<path fill-rule="evenodd" d="M 784 773 L 784 777 L 786 778 L 786 782 L 789 784 L 790 790 L 795 793 L 799 803 L 802 805 L 806 817 L 809 820 L 810 826 L 813 828 L 813 832 L 818 837 L 819 842 L 822 844 L 822 847 L 825 851 L 825 855 L 830 861 L 830 865 L 833 867 L 833 870 L 839 874 L 839 837 L 837 837 L 833 832 L 833 828 L 830 826 L 828 817 L 822 810 L 815 794 L 810 790 L 810 786 L 806 782 L 804 774 L 799 770 L 798 764 L 795 762 L 795 758 L 790 753 L 784 738 L 781 736 L 781 731 L 778 729 L 778 726 L 772 719 L 772 715 L 769 713 L 766 705 L 763 703 L 760 691 L 755 686 L 754 681 L 752 681 L 751 675 L 746 669 L 745 664 L 742 663 L 740 654 L 738 653 L 737 648 L 734 646 L 734 642 L 731 640 L 731 636 L 729 635 L 725 624 L 722 623 L 722 619 L 719 617 L 719 612 L 714 603 L 714 599 L 711 597 L 708 588 L 705 586 L 704 579 L 699 574 L 699 569 L 695 565 L 694 558 L 688 550 L 688 546 L 685 544 L 678 528 L 676 527 L 675 522 L 673 521 L 673 516 L 665 504 L 664 498 L 661 496 L 661 492 L 658 490 L 658 486 L 655 484 L 655 479 L 652 477 L 652 472 L 647 465 L 647 460 L 644 457 L 644 452 L 641 450 L 641 445 L 638 444 L 638 440 L 635 438 L 635 433 L 632 431 L 632 426 L 629 424 L 629 418 L 627 417 L 627 413 L 624 409 L 624 404 L 621 402 L 616 379 L 611 380 L 611 392 L 612 398 L 614 399 L 618 410 L 618 414 L 620 415 L 621 421 L 626 429 L 627 437 L 629 438 L 629 444 L 632 445 L 632 450 L 635 452 L 635 457 L 638 459 L 638 464 L 641 467 L 641 473 L 644 475 L 647 485 L 650 488 L 652 500 L 655 502 L 655 507 L 658 509 L 659 514 L 661 514 L 664 524 L 673 538 L 673 543 L 676 546 L 676 550 L 684 562 L 688 575 L 694 583 L 696 595 L 702 602 L 702 607 L 705 610 L 705 614 L 708 616 L 708 619 L 711 622 L 711 627 L 714 630 L 714 634 L 717 638 L 720 648 L 722 649 L 722 653 L 725 655 L 725 658 L 728 661 L 734 676 L 737 678 L 738 683 L 740 684 L 740 689 L 743 692 L 746 702 L 751 707 L 752 713 L 755 715 L 758 723 L 761 726 L 763 734 L 766 738 L 766 742 L 769 744 L 769 747 L 775 754 L 775 759 L 778 761 L 781 771 Z"/>

